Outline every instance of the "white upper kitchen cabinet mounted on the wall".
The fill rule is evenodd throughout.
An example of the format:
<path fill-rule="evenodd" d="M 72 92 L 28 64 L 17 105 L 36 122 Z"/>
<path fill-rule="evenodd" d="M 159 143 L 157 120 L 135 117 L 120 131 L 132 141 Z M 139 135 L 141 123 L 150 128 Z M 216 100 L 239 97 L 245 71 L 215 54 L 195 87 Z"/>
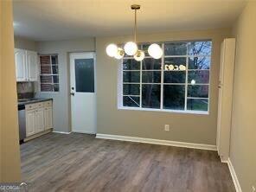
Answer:
<path fill-rule="evenodd" d="M 38 77 L 37 53 L 34 51 L 15 49 L 16 80 L 36 81 Z"/>

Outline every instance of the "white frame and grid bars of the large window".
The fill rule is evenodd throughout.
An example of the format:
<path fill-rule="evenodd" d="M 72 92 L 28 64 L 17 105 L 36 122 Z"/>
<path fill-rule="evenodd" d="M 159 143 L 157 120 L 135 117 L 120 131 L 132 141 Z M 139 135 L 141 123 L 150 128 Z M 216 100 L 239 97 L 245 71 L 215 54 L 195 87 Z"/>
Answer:
<path fill-rule="evenodd" d="M 164 53 L 164 44 L 167 43 L 179 43 L 179 42 L 186 42 L 187 43 L 187 54 L 185 55 L 165 55 Z M 210 87 L 211 87 L 211 66 L 212 66 L 212 55 L 213 55 L 213 40 L 211 39 L 207 39 L 207 40 L 191 40 L 191 41 L 176 41 L 176 42 L 156 42 L 157 44 L 160 44 L 160 46 L 163 49 L 163 55 L 161 57 L 161 69 L 148 69 L 148 70 L 144 70 L 143 66 L 142 66 L 142 61 L 140 62 L 140 68 L 138 70 L 123 70 L 123 60 L 124 59 L 132 59 L 132 57 L 127 57 L 125 56 L 122 60 L 120 60 L 118 62 L 118 110 L 136 110 L 136 111 L 147 111 L 147 112 L 178 112 L 178 113 L 192 113 L 192 114 L 202 114 L 202 115 L 208 115 L 209 111 L 210 111 Z M 211 48 L 211 53 L 210 54 L 189 54 L 189 42 L 212 42 L 212 48 Z M 143 44 L 148 44 L 150 42 L 144 42 L 144 43 L 139 43 L 140 46 Z M 185 70 L 185 83 L 164 83 L 164 59 L 165 58 L 186 58 L 186 70 Z M 189 69 L 189 58 L 191 57 L 209 57 L 209 61 L 210 61 L 210 66 L 208 69 Z M 144 59 L 146 58 L 152 58 L 150 56 L 145 56 Z M 123 72 L 124 71 L 139 71 L 140 72 L 140 81 L 137 83 L 129 83 L 129 82 L 123 82 Z M 160 83 L 143 83 L 142 82 L 142 72 L 143 71 L 161 71 L 161 81 Z M 208 83 L 196 83 L 195 85 L 202 85 L 202 86 L 208 86 L 208 98 L 200 98 L 200 97 L 189 97 L 188 96 L 188 87 L 189 85 L 191 85 L 188 82 L 188 78 L 189 78 L 189 71 L 208 71 L 209 73 L 209 77 L 208 77 Z M 140 87 L 139 90 L 139 95 L 126 95 L 123 94 L 123 85 L 124 84 L 138 84 Z M 160 108 L 156 109 L 156 108 L 146 108 L 146 107 L 142 107 L 142 86 L 144 84 L 157 84 L 160 85 Z M 185 86 L 185 102 L 184 102 L 184 110 L 174 110 L 174 109 L 164 109 L 163 108 L 163 86 L 164 85 L 182 85 Z M 135 96 L 135 97 L 139 97 L 140 98 L 140 103 L 138 107 L 134 107 L 134 106 L 123 106 L 123 97 L 124 96 Z M 196 110 L 188 110 L 188 99 L 208 99 L 208 111 L 196 111 Z"/>

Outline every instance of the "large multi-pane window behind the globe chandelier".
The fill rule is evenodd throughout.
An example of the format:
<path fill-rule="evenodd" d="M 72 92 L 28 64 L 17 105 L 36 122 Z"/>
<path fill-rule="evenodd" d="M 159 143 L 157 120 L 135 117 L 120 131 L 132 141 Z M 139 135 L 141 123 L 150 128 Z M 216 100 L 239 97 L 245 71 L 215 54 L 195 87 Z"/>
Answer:
<path fill-rule="evenodd" d="M 212 42 L 164 42 L 163 57 L 125 57 L 119 106 L 179 112 L 208 112 Z M 148 44 L 139 45 L 146 50 Z"/>

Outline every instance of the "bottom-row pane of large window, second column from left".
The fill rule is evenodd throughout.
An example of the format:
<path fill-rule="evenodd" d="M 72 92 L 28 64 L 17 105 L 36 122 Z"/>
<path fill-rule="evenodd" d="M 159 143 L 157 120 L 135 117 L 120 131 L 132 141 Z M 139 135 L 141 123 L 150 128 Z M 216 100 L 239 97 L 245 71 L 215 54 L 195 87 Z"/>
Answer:
<path fill-rule="evenodd" d="M 142 86 L 142 107 L 160 108 L 160 85 Z"/>

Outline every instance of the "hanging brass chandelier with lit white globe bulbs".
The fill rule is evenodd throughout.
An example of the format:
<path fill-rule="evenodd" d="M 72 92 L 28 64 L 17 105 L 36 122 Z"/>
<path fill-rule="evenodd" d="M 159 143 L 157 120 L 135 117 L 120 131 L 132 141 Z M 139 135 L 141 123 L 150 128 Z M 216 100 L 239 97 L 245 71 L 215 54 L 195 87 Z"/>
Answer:
<path fill-rule="evenodd" d="M 106 54 L 116 59 L 122 59 L 125 54 L 133 56 L 136 61 L 143 61 L 145 54 L 143 50 L 138 49 L 137 45 L 137 10 L 140 5 L 132 4 L 131 10 L 134 10 L 134 42 L 126 42 L 124 48 L 119 48 L 116 44 L 111 43 L 106 47 Z M 157 44 L 150 44 L 148 54 L 154 59 L 160 59 L 163 55 L 162 48 Z"/>

